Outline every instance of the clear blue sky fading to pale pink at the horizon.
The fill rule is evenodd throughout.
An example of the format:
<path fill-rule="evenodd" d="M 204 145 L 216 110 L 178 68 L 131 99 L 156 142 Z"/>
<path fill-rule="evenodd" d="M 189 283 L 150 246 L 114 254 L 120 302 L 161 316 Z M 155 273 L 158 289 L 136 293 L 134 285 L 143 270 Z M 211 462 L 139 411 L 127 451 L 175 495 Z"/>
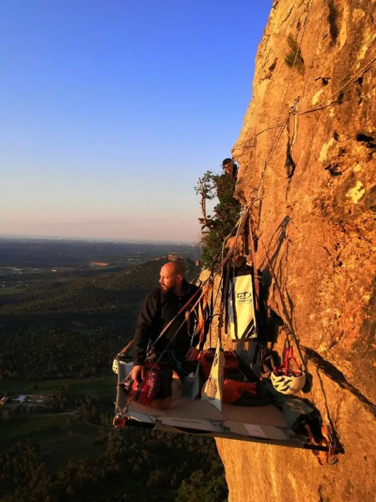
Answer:
<path fill-rule="evenodd" d="M 271 4 L 0 2 L 0 234 L 197 239 Z"/>

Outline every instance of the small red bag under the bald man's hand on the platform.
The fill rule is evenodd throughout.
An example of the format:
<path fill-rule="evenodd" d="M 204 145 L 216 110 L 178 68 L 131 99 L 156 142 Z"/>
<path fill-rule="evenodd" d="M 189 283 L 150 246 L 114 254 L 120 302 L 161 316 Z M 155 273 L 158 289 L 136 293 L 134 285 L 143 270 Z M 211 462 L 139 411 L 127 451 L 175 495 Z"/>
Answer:
<path fill-rule="evenodd" d="M 155 398 L 160 383 L 160 367 L 153 361 L 145 361 L 145 378 L 141 383 L 125 378 L 123 389 L 131 399 L 140 405 L 149 406 Z"/>

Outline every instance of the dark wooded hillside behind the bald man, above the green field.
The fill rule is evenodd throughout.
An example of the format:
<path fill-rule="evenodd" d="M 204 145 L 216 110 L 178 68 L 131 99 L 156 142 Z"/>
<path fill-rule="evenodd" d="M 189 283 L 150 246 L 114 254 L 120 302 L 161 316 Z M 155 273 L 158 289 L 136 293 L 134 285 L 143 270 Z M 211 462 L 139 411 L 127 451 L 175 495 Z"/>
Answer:
<path fill-rule="evenodd" d="M 86 378 L 108 373 L 133 337 L 145 294 L 158 286 L 167 258 L 95 279 L 8 295 L 0 307 L 0 375 L 21 380 Z M 199 274 L 184 262 L 187 279 Z M 0 296 L 0 298 L 2 298 Z"/>

